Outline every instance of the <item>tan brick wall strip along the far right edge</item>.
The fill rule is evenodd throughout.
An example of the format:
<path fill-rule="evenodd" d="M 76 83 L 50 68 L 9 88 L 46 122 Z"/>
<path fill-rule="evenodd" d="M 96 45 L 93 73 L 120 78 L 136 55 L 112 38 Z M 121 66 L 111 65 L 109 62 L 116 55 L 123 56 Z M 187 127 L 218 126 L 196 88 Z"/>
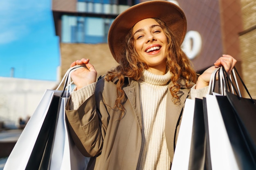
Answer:
<path fill-rule="evenodd" d="M 256 99 L 256 1 L 241 0 L 243 32 L 240 33 L 241 70 L 252 98 Z M 245 96 L 248 97 L 248 96 Z"/>

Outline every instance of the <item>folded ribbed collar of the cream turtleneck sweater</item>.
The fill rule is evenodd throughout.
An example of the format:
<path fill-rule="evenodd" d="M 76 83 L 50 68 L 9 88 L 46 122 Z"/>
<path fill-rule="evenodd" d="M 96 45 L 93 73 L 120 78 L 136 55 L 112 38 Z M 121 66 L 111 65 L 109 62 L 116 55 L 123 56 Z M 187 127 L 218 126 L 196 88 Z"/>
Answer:
<path fill-rule="evenodd" d="M 157 75 L 149 72 L 148 70 L 144 70 L 140 79 L 141 81 L 145 81 L 146 83 L 153 85 L 166 85 L 171 79 L 171 73 L 168 71 L 164 75 Z"/>

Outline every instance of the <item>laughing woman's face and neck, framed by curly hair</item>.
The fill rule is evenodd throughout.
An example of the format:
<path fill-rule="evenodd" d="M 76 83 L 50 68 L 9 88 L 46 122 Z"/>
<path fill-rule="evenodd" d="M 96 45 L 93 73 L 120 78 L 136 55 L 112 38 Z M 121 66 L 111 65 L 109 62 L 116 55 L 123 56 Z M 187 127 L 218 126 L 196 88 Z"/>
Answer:
<path fill-rule="evenodd" d="M 153 18 L 141 20 L 133 27 L 135 49 L 139 57 L 155 74 L 166 73 L 167 37 L 161 26 Z"/>

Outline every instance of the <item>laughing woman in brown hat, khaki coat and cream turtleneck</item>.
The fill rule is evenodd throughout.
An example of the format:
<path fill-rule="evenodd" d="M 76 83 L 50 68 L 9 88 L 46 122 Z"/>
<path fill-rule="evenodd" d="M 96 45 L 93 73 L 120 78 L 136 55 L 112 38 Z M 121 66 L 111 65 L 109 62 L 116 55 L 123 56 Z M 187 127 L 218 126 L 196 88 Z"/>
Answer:
<path fill-rule="evenodd" d="M 66 115 L 88 169 L 169 170 L 186 98 L 202 98 L 210 75 L 236 60 L 220 57 L 197 78 L 180 45 L 186 34 L 182 9 L 148 1 L 121 13 L 110 27 L 110 51 L 119 63 L 96 82 L 89 59 L 73 62 L 76 85 Z M 196 83 L 196 84 L 195 84 Z"/>

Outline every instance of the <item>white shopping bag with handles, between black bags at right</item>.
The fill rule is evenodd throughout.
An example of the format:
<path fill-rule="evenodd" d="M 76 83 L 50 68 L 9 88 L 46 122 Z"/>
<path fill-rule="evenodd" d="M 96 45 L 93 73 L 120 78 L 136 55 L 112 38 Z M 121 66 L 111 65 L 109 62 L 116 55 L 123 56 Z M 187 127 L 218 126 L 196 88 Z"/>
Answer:
<path fill-rule="evenodd" d="M 204 117 L 207 118 L 207 143 L 209 143 L 209 157 L 213 170 L 238 170 L 238 164 L 231 147 L 225 123 L 216 96 L 223 96 L 228 85 L 222 74 L 222 67 L 217 68 L 211 75 L 207 96 L 203 99 Z M 218 81 L 217 81 L 218 75 Z M 215 87 L 217 86 L 216 90 Z M 217 91 L 217 93 L 215 93 Z"/>

